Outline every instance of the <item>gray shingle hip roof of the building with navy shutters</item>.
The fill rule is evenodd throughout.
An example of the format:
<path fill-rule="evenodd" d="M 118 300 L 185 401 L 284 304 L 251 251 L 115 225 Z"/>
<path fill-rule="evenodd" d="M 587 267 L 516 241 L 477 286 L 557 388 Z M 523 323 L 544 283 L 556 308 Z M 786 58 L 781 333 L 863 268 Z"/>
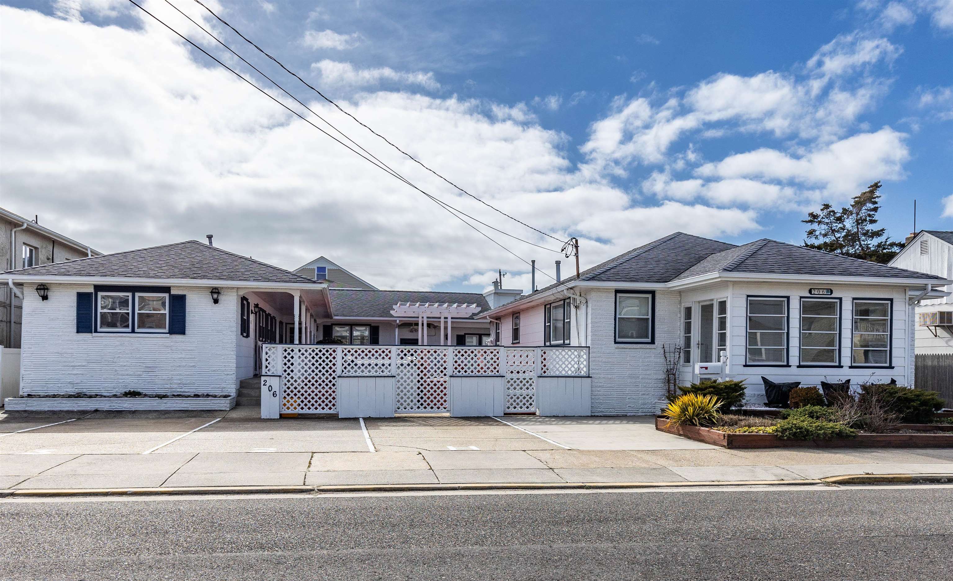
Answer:
<path fill-rule="evenodd" d="M 7 274 L 314 284 L 313 280 L 289 270 L 209 246 L 198 240 L 114 252 L 29 269 L 9 270 Z"/>

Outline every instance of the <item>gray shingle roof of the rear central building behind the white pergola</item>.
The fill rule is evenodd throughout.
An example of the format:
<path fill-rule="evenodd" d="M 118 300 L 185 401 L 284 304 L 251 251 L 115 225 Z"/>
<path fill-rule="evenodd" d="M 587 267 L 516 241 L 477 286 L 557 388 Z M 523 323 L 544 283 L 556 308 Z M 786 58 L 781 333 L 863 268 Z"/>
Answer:
<path fill-rule="evenodd" d="M 486 297 L 478 292 L 436 292 L 430 290 L 349 290 L 329 289 L 331 309 L 335 318 L 394 317 L 391 311 L 397 303 L 467 303 L 480 308 L 471 318 L 478 318 L 490 310 Z"/>

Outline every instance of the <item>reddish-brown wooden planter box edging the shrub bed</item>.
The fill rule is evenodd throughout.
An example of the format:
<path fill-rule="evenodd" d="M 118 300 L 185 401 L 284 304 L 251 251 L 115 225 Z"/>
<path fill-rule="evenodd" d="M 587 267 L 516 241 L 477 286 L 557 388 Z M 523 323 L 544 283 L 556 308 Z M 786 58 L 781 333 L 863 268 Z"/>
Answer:
<path fill-rule="evenodd" d="M 856 438 L 834 440 L 781 440 L 773 433 L 727 433 L 696 426 L 666 428 L 665 418 L 656 418 L 656 430 L 691 438 L 721 448 L 953 448 L 948 426 L 906 424 L 906 430 L 935 430 L 938 433 L 859 433 Z M 926 428 L 929 426 L 929 428 Z"/>

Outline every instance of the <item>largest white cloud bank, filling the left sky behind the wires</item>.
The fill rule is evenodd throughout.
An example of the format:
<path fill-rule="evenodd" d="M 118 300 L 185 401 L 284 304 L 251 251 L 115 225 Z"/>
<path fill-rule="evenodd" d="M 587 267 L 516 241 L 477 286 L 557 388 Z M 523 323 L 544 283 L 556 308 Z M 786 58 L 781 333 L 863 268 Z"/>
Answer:
<path fill-rule="evenodd" d="M 0 6 L 0 35 L 4 207 L 38 213 L 94 248 L 212 232 L 228 250 L 285 268 L 324 254 L 356 265 L 382 288 L 441 287 L 493 265 L 513 272 L 511 280 L 528 270 L 227 70 L 196 62 L 167 31 Z M 352 69 L 329 70 L 344 70 L 344 79 L 394 78 Z M 749 210 L 636 205 L 602 176 L 576 170 L 567 136 L 537 125 L 525 104 L 387 91 L 339 103 L 501 210 L 557 235 L 578 233 L 583 268 L 672 230 L 719 236 L 758 228 Z M 422 189 L 527 240 L 556 245 L 458 194 L 333 107 L 310 106 Z M 555 254 L 490 233 L 552 273 Z"/>

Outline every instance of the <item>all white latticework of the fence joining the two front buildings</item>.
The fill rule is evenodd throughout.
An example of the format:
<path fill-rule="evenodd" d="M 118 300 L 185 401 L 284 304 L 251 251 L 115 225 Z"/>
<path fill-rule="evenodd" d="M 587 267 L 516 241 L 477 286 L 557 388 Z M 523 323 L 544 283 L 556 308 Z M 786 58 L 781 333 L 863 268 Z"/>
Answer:
<path fill-rule="evenodd" d="M 537 377 L 588 377 L 585 347 L 275 345 L 263 375 L 280 375 L 281 411 L 335 413 L 338 378 L 393 377 L 395 413 L 446 413 L 451 377 L 504 377 L 505 412 L 537 411 Z"/>

